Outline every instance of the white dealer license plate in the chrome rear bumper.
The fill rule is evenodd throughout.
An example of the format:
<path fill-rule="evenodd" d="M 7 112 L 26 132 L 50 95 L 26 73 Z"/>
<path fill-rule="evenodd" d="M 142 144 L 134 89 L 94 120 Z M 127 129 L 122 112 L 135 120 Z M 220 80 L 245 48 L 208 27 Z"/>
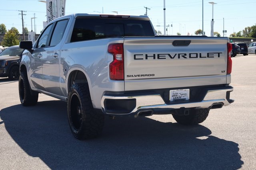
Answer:
<path fill-rule="evenodd" d="M 170 90 L 170 102 L 189 100 L 189 89 Z"/>

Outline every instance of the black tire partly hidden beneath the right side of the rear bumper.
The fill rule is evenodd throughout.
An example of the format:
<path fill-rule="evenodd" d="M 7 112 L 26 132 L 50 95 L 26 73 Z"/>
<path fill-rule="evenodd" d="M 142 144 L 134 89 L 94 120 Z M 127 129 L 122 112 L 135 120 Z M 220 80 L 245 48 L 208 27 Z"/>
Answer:
<path fill-rule="evenodd" d="M 196 125 L 205 121 L 209 114 L 209 109 L 191 109 L 189 115 L 175 115 L 172 117 L 182 125 Z"/>

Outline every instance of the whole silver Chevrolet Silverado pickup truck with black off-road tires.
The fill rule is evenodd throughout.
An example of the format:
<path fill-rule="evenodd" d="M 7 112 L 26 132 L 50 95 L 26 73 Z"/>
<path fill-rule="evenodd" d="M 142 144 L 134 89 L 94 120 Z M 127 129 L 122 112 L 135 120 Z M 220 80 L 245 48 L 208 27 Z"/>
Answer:
<path fill-rule="evenodd" d="M 191 125 L 234 102 L 228 38 L 156 36 L 147 16 L 64 16 L 20 48 L 20 102 L 66 101 L 77 139 L 100 135 L 104 115 L 172 114 Z"/>

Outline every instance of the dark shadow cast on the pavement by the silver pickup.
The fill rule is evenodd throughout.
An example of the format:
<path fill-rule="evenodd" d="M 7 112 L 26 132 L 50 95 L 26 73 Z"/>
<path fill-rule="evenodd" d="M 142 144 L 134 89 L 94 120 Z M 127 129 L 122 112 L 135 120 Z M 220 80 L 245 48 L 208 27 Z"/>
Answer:
<path fill-rule="evenodd" d="M 11 106 L 0 117 L 14 141 L 51 169 L 215 170 L 243 164 L 237 143 L 212 136 L 202 125 L 106 117 L 102 136 L 78 141 L 68 126 L 66 102 Z"/>

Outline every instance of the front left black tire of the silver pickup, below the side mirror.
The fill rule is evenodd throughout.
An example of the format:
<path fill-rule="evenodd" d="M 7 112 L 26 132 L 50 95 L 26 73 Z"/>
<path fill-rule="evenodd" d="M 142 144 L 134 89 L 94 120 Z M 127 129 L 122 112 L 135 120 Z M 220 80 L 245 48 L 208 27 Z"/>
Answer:
<path fill-rule="evenodd" d="M 33 94 L 31 94 L 32 91 L 30 90 L 28 76 L 26 72 L 21 72 L 19 78 L 19 96 L 20 103 L 23 106 L 34 106 L 37 104 L 38 92 L 33 92 Z"/>

